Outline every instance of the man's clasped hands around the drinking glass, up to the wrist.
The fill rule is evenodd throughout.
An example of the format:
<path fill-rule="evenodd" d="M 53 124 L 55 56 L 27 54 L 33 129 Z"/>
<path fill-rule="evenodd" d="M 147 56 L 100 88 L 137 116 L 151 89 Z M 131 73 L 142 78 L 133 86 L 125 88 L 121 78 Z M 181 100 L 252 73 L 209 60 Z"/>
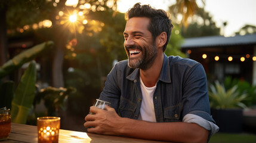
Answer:
<path fill-rule="evenodd" d="M 118 125 L 118 121 L 121 117 L 116 114 L 114 108 L 106 105 L 106 110 L 102 110 L 97 107 L 90 107 L 90 113 L 85 117 L 85 128 L 88 128 L 88 132 L 100 133 L 106 135 L 119 135 L 117 132 L 122 125 Z M 92 127 L 92 128 L 90 128 Z"/>

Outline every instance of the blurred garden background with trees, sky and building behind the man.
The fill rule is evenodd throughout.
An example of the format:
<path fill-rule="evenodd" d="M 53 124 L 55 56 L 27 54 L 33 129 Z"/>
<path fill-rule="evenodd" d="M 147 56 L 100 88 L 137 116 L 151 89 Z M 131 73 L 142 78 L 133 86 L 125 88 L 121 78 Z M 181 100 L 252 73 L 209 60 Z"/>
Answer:
<path fill-rule="evenodd" d="M 35 125 L 36 117 L 60 116 L 62 129 L 85 131 L 84 117 L 107 74 L 127 59 L 124 13 L 136 2 L 170 14 L 174 29 L 166 55 L 192 58 L 205 68 L 220 132 L 248 132 L 254 140 L 254 0 L 1 0 L 0 107 L 11 108 L 13 122 Z M 237 121 L 238 130 L 224 120 Z"/>

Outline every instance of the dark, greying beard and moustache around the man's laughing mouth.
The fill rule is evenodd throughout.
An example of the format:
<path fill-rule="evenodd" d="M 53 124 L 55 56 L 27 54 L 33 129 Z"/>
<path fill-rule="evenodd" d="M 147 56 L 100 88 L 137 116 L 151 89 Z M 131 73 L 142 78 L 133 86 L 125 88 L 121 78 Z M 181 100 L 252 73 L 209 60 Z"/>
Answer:
<path fill-rule="evenodd" d="M 135 58 L 130 58 L 129 57 L 129 51 L 128 49 L 139 49 L 141 51 L 141 56 L 140 57 L 135 57 Z M 132 69 L 139 68 L 141 70 L 147 70 L 149 69 L 153 61 L 155 61 L 156 56 L 158 55 L 158 51 L 156 49 L 156 45 L 152 44 L 149 45 L 148 48 L 145 46 L 125 46 L 125 50 L 127 52 L 127 57 L 128 57 L 128 66 L 131 67 Z"/>

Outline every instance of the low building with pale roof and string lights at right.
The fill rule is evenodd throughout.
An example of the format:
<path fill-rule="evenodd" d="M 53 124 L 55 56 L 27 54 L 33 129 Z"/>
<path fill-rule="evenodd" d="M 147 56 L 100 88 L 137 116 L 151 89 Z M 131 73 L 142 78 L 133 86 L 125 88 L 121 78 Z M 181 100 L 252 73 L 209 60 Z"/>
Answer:
<path fill-rule="evenodd" d="M 256 33 L 187 38 L 181 51 L 203 65 L 211 82 L 232 76 L 256 85 Z"/>

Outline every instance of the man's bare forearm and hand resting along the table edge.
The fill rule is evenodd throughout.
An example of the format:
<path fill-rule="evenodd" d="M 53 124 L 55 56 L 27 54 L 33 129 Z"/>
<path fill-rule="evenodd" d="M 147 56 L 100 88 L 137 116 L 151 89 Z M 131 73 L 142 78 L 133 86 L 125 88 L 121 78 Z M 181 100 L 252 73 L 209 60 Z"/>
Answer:
<path fill-rule="evenodd" d="M 90 107 L 90 112 L 95 114 L 85 117 L 84 126 L 91 133 L 171 142 L 207 142 L 209 133 L 195 123 L 152 123 L 119 117 L 111 107 L 106 107 L 106 110 Z"/>

